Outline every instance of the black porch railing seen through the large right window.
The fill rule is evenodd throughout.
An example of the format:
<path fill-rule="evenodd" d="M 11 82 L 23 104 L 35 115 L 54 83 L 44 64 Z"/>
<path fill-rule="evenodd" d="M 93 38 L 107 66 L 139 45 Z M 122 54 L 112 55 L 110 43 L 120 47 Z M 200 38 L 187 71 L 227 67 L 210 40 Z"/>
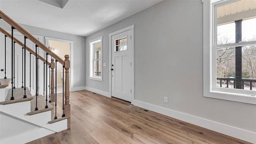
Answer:
<path fill-rule="evenodd" d="M 226 88 L 228 88 L 228 83 L 233 81 L 232 84 L 234 84 L 234 88 L 236 87 L 236 78 L 227 78 L 227 77 L 217 77 L 217 80 L 220 80 L 220 87 L 222 87 L 222 84 L 226 85 Z M 249 82 L 249 83 L 245 83 Z M 250 90 L 252 90 L 253 83 L 256 83 L 256 79 L 242 79 L 242 89 L 244 89 L 244 85 L 249 84 Z"/>

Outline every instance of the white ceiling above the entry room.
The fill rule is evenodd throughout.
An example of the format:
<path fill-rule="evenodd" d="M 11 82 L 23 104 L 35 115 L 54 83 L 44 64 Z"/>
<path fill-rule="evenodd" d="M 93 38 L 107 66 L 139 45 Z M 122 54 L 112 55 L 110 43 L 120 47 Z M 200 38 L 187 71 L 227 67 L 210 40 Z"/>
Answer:
<path fill-rule="evenodd" d="M 0 10 L 15 22 L 88 36 L 162 0 L 69 0 L 58 8 L 38 0 L 0 0 Z"/>

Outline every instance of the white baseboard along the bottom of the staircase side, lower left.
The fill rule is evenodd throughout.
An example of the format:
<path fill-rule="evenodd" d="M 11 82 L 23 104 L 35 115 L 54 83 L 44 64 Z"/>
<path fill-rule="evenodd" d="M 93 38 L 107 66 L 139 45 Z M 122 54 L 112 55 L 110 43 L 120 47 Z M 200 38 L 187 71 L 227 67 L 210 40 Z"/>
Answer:
<path fill-rule="evenodd" d="M 0 144 L 25 144 L 53 133 L 55 132 L 46 128 L 37 128 L 35 130 L 0 140 Z"/>

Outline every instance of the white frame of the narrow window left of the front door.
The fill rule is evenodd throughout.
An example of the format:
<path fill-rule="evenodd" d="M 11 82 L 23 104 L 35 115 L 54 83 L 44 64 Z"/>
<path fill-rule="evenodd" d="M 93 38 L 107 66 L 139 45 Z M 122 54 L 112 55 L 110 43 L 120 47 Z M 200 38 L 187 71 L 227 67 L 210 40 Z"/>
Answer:
<path fill-rule="evenodd" d="M 102 81 L 102 75 L 103 75 L 103 69 L 102 69 L 102 63 L 103 63 L 103 58 L 102 58 L 102 47 L 103 47 L 103 44 L 102 44 L 102 39 L 103 37 L 98 37 L 96 39 L 92 39 L 89 41 L 89 44 L 90 44 L 90 78 L 89 79 L 93 79 L 93 80 L 96 80 L 96 81 Z M 101 42 L 101 75 L 100 76 L 94 76 L 94 44 L 95 43 L 98 43 L 98 42 Z"/>

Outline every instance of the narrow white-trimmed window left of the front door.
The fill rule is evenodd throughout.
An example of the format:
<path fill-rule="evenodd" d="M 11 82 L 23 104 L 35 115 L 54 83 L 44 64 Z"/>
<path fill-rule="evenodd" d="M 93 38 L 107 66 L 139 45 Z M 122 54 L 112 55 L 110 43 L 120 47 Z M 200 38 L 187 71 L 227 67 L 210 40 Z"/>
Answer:
<path fill-rule="evenodd" d="M 90 43 L 90 79 L 102 81 L 102 37 Z"/>

